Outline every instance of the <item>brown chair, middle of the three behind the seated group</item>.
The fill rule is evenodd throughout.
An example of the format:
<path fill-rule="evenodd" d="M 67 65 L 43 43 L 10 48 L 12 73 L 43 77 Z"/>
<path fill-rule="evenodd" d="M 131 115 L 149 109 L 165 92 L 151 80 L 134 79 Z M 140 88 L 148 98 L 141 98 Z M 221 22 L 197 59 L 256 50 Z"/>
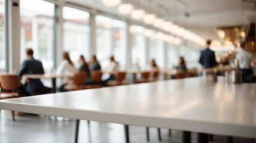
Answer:
<path fill-rule="evenodd" d="M 101 70 L 91 71 L 91 78 L 92 78 L 93 82 L 95 82 L 95 84 L 86 85 L 85 89 L 101 88 L 103 86 L 102 80 L 101 80 L 102 75 L 103 75 L 103 73 Z"/>

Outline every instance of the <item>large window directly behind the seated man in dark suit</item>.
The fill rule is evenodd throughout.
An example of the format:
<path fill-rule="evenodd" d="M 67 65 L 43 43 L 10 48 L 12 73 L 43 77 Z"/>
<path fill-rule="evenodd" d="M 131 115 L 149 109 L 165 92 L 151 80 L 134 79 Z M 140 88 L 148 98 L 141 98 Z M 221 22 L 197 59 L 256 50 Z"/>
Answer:
<path fill-rule="evenodd" d="M 25 49 L 32 48 L 34 57 L 44 69 L 53 67 L 54 4 L 42 0 L 20 0 L 21 61 Z"/>

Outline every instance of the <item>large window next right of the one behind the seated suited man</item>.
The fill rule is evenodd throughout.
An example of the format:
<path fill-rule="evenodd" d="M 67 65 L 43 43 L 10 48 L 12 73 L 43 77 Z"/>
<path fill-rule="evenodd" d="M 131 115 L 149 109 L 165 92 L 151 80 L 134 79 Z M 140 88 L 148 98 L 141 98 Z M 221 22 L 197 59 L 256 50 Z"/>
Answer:
<path fill-rule="evenodd" d="M 90 58 L 90 14 L 71 7 L 63 7 L 63 48 L 76 62 L 80 55 Z"/>

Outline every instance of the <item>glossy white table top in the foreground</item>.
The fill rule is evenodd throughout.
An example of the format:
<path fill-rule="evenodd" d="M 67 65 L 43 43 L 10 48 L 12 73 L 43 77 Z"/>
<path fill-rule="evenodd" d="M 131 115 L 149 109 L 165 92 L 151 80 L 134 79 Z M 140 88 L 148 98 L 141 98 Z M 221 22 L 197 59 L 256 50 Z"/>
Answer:
<path fill-rule="evenodd" d="M 256 138 L 256 84 L 202 77 L 1 100 L 4 110 Z"/>

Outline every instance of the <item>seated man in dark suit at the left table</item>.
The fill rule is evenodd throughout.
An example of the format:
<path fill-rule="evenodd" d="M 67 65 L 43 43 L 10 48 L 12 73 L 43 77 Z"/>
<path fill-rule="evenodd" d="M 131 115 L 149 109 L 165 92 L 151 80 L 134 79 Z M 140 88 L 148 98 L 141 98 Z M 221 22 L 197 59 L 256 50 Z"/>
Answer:
<path fill-rule="evenodd" d="M 32 49 L 26 49 L 26 58 L 27 60 L 23 61 L 22 68 L 19 71 L 20 77 L 23 74 L 44 74 L 41 61 L 33 58 Z M 27 96 L 35 93 L 49 94 L 50 92 L 51 89 L 42 85 L 40 79 L 26 79 L 26 83 L 18 89 L 19 94 L 26 94 Z"/>

